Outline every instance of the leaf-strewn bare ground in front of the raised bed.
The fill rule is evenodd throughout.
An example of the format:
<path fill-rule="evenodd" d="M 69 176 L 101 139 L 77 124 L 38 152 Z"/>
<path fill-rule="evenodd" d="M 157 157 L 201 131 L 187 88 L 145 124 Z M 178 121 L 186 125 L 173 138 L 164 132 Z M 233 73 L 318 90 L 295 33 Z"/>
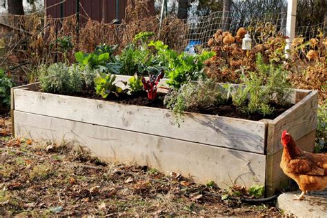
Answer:
<path fill-rule="evenodd" d="M 274 205 L 221 200 L 226 192 L 174 172 L 103 163 L 68 144 L 12 139 L 10 120 L 0 120 L 0 216 L 281 216 Z"/>

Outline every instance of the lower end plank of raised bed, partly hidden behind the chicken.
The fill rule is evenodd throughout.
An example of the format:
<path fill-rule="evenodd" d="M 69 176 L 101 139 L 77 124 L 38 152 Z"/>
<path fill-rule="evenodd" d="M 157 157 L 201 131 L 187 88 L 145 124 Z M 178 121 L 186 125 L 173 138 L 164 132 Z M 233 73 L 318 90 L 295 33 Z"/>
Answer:
<path fill-rule="evenodd" d="M 308 133 L 304 137 L 297 139 L 295 143 L 297 147 L 301 150 L 306 150 L 308 152 L 313 152 L 315 149 L 315 133 Z M 277 188 L 282 188 L 287 186 L 289 178 L 286 177 L 283 170 L 280 168 L 281 155 L 283 150 L 279 150 L 275 154 L 267 155 L 266 159 L 266 193 L 268 196 L 275 195 Z"/>

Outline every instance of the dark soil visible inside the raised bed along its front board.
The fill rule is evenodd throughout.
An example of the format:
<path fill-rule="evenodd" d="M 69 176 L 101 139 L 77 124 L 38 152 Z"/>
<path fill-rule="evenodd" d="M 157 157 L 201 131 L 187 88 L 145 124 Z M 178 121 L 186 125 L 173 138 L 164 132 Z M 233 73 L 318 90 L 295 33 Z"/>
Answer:
<path fill-rule="evenodd" d="M 107 99 L 108 101 L 114 101 L 117 103 L 123 103 L 123 104 L 132 104 L 137 106 L 148 106 L 153 108 L 166 108 L 164 106 L 164 96 L 166 94 L 158 92 L 157 98 L 155 100 L 150 100 L 147 97 L 146 92 L 139 92 L 135 95 L 119 95 L 119 97 L 116 97 L 115 95 L 110 95 Z M 91 99 L 101 99 L 98 95 L 95 94 L 94 90 L 83 90 L 83 92 L 79 92 L 75 94 L 76 97 L 86 97 Z M 271 103 L 270 106 L 273 106 L 275 108 L 273 114 L 264 116 L 263 114 L 257 112 L 257 113 L 245 113 L 239 110 L 237 106 L 232 105 L 232 101 L 226 102 L 226 104 L 221 105 L 215 105 L 211 106 L 209 108 L 190 108 L 188 112 L 199 112 L 201 114 L 206 115 L 219 115 L 224 117 L 234 117 L 234 118 L 241 118 L 241 119 L 249 119 L 253 121 L 259 121 L 261 119 L 275 119 L 281 113 L 285 112 L 288 108 L 292 106 L 292 104 L 281 106 L 277 105 L 276 103 Z"/>

